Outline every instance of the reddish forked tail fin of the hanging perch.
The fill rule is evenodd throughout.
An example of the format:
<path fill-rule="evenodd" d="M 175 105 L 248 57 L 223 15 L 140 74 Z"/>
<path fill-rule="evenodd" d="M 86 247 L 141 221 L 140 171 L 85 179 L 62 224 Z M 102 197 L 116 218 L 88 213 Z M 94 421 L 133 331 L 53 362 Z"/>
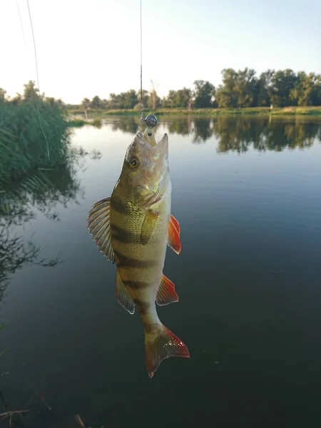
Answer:
<path fill-rule="evenodd" d="M 145 330 L 146 368 L 153 377 L 158 366 L 168 357 L 190 357 L 188 347 L 165 325 L 157 325 L 150 332 Z"/>

